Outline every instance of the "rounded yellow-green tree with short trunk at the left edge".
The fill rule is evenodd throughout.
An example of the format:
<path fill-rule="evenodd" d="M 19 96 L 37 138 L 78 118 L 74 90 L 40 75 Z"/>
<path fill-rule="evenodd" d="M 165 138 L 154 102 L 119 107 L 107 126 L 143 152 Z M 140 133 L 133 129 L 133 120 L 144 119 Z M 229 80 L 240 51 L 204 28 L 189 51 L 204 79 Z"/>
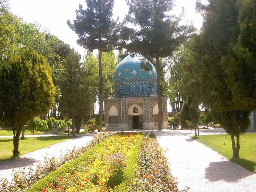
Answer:
<path fill-rule="evenodd" d="M 20 132 L 35 116 L 46 114 L 54 102 L 55 87 L 46 58 L 32 49 L 21 50 L 0 63 L 0 116 L 12 128 L 13 156 L 19 156 Z"/>

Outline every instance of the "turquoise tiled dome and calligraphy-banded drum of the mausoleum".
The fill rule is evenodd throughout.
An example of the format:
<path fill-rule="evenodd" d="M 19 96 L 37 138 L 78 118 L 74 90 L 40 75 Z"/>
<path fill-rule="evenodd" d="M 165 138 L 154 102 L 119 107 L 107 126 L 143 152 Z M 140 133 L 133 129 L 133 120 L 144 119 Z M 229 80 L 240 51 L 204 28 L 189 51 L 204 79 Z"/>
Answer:
<path fill-rule="evenodd" d="M 116 67 L 114 88 L 116 98 L 156 97 L 156 69 L 149 60 L 133 52 Z"/>

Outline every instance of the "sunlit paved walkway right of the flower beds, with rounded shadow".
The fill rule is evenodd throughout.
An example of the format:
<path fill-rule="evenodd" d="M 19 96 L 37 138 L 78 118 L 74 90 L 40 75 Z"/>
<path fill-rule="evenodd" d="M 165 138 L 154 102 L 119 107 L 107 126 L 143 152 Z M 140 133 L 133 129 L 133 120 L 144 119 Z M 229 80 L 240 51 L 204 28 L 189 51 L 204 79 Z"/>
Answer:
<path fill-rule="evenodd" d="M 221 134 L 223 130 L 200 130 L 199 134 Z M 192 140 L 189 130 L 154 131 L 159 144 L 167 149 L 172 176 L 189 192 L 255 192 L 256 174 L 233 163 L 212 149 Z M 223 134 L 223 132 L 222 132 Z"/>

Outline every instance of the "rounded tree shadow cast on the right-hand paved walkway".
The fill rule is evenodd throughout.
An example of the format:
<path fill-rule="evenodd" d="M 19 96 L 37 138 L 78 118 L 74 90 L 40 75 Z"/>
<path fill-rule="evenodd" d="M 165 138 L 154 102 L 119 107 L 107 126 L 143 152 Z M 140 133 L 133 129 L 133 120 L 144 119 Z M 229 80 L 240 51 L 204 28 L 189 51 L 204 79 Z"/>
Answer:
<path fill-rule="evenodd" d="M 250 175 L 252 175 L 251 172 L 230 161 L 210 162 L 208 168 L 205 169 L 205 178 L 211 182 L 219 180 L 238 182 Z"/>

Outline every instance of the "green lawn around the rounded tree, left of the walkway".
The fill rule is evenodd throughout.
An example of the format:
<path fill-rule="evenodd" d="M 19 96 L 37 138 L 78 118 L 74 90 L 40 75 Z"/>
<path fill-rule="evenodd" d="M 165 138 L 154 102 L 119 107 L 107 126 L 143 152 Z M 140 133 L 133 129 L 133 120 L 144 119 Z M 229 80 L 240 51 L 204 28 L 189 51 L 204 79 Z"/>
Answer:
<path fill-rule="evenodd" d="M 20 139 L 20 155 L 71 139 L 72 137 L 33 137 Z M 12 157 L 12 138 L 0 138 L 0 162 Z"/>

